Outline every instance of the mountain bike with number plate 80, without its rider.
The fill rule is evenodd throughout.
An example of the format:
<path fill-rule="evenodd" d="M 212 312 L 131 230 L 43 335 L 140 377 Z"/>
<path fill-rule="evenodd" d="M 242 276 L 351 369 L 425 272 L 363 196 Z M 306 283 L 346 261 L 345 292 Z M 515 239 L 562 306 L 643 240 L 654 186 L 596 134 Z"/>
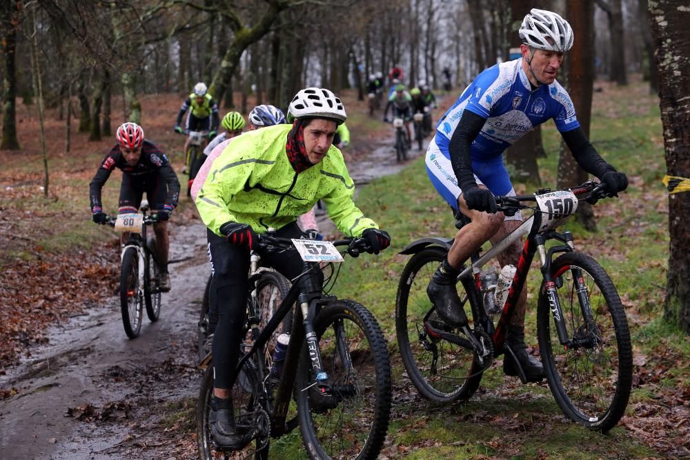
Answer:
<path fill-rule="evenodd" d="M 119 294 L 122 324 L 130 339 L 139 337 L 144 305 L 151 322 L 158 321 L 161 312 L 161 291 L 155 281 L 158 275 L 155 240 L 146 237 L 146 228 L 157 222 L 157 215 L 147 215 L 146 200 L 141 202 L 139 210 L 141 214 L 118 214 L 106 219 L 115 230 L 129 234 L 121 253 Z"/>

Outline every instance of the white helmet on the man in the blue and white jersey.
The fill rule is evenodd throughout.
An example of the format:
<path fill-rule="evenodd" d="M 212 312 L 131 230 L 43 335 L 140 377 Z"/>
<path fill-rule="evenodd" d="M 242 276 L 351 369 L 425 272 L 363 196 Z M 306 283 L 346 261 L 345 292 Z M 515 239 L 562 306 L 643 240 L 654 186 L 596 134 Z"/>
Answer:
<path fill-rule="evenodd" d="M 555 12 L 532 8 L 520 26 L 522 43 L 532 48 L 566 52 L 573 47 L 573 29 Z"/>

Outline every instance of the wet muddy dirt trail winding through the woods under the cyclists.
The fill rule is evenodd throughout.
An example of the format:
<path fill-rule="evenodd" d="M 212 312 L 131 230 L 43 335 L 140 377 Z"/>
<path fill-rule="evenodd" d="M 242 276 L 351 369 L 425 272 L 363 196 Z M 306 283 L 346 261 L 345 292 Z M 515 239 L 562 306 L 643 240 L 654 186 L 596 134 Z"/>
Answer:
<path fill-rule="evenodd" d="M 409 157 L 422 152 L 413 148 Z M 360 186 L 403 167 L 388 142 L 348 165 Z M 323 232 L 333 230 L 326 217 L 319 219 Z M 0 377 L 1 388 L 18 390 L 0 402 L 0 459 L 194 456 L 195 442 L 181 451 L 175 431 L 193 423 L 193 405 L 184 401 L 195 398 L 201 380 L 196 323 L 210 270 L 206 232 L 195 222 L 172 226 L 172 290 L 164 294 L 159 321 L 144 314 L 137 339 L 124 333 L 119 299 L 103 299 L 51 330 L 50 345 Z M 171 419 L 180 412 L 190 416 L 186 422 Z"/>

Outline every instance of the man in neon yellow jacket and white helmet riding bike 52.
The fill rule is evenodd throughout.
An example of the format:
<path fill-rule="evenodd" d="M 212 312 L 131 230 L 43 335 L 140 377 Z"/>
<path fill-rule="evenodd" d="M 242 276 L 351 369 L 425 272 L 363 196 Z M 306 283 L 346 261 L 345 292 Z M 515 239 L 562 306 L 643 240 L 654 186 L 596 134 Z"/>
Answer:
<path fill-rule="evenodd" d="M 268 126 L 233 139 L 213 166 L 196 199 L 204 224 L 215 235 L 208 252 L 213 266 L 219 319 L 213 337 L 214 390 L 210 420 L 219 446 L 242 448 L 247 441 L 235 426 L 230 370 L 237 365 L 248 292 L 250 249 L 257 233 L 302 238 L 296 219 L 323 199 L 328 215 L 347 236 L 362 237 L 377 254 L 390 237 L 353 203 L 355 184 L 341 152 L 333 146 L 344 106 L 330 90 L 306 88 L 290 102 L 290 125 Z M 292 279 L 302 272 L 295 252 L 262 254 Z"/>

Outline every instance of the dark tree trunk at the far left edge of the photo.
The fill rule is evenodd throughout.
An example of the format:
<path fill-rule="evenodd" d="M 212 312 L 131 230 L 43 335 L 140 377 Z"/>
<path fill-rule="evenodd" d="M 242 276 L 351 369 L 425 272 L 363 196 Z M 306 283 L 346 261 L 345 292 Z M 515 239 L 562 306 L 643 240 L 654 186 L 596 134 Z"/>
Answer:
<path fill-rule="evenodd" d="M 5 0 L 0 3 L 0 25 L 2 26 L 0 49 L 5 63 L 0 149 L 19 150 L 19 141 L 17 141 L 17 67 L 14 52 L 17 49 L 17 27 L 19 26 L 17 17 L 20 2 Z"/>

